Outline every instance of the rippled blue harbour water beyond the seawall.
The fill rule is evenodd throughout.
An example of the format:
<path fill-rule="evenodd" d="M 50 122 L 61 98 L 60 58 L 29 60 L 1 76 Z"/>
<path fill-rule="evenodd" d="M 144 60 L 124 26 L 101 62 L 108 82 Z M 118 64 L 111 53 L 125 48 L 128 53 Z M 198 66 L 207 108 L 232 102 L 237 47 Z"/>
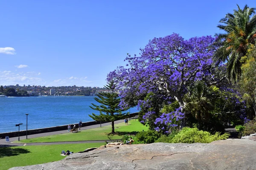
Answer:
<path fill-rule="evenodd" d="M 23 123 L 20 130 L 26 130 L 25 113 L 29 113 L 28 130 L 93 121 L 88 115 L 99 112 L 89 107 L 91 103 L 99 105 L 94 96 L 0 97 L 0 133 L 17 131 L 19 123 Z"/>

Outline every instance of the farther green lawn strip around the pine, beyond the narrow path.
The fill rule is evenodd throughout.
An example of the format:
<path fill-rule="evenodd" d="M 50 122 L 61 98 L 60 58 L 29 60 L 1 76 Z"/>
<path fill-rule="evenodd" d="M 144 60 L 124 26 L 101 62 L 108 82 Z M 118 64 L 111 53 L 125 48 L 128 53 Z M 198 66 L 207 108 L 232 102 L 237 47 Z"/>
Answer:
<path fill-rule="evenodd" d="M 115 125 L 115 134 L 110 134 L 111 125 L 98 127 L 94 129 L 81 130 L 78 133 L 63 133 L 52 136 L 43 136 L 32 139 L 20 140 L 21 143 L 37 143 L 37 142 L 66 142 L 66 141 L 89 141 L 89 140 L 116 140 L 121 139 L 125 134 L 136 134 L 139 131 L 148 130 L 148 127 L 142 125 L 138 120 L 131 120 L 128 125 L 119 123 Z M 18 141 L 15 141 L 16 143 Z"/>

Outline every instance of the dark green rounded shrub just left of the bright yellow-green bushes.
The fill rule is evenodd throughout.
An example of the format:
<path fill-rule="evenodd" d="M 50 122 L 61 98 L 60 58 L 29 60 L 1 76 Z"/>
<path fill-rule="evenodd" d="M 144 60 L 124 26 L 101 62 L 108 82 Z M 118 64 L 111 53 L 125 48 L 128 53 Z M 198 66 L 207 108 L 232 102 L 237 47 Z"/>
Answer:
<path fill-rule="evenodd" d="M 160 133 L 155 130 L 148 130 L 137 133 L 136 137 L 138 142 L 154 143 L 154 141 L 160 137 Z"/>

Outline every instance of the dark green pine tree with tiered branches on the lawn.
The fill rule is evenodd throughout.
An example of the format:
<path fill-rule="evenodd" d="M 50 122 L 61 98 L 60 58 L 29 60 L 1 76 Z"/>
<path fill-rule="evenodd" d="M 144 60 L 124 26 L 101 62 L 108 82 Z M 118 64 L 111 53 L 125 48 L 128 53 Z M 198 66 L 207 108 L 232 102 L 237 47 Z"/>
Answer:
<path fill-rule="evenodd" d="M 119 106 L 120 98 L 118 98 L 118 94 L 114 92 L 115 86 L 116 85 L 113 81 L 108 82 L 108 85 L 104 87 L 111 92 L 102 92 L 102 93 L 96 94 L 97 97 L 95 97 L 94 99 L 96 100 L 96 102 L 101 103 L 101 105 L 95 105 L 91 103 L 94 107 L 90 106 L 90 108 L 92 108 L 93 110 L 99 111 L 100 114 L 96 115 L 95 113 L 92 113 L 92 115 L 89 115 L 91 118 L 93 118 L 96 121 L 112 122 L 111 133 L 115 133 L 114 121 L 119 119 L 124 119 L 128 115 L 128 113 L 122 113 L 122 111 L 126 111 L 128 110 L 128 108 L 122 109 Z M 105 114 L 102 112 L 104 112 Z"/>

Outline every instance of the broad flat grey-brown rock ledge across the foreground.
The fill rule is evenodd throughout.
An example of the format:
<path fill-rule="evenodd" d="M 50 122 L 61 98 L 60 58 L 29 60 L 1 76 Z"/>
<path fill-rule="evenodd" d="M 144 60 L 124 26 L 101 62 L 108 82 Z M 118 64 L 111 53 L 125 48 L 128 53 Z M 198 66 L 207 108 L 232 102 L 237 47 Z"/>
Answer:
<path fill-rule="evenodd" d="M 256 170 L 256 142 L 107 145 L 61 161 L 10 170 Z"/>

